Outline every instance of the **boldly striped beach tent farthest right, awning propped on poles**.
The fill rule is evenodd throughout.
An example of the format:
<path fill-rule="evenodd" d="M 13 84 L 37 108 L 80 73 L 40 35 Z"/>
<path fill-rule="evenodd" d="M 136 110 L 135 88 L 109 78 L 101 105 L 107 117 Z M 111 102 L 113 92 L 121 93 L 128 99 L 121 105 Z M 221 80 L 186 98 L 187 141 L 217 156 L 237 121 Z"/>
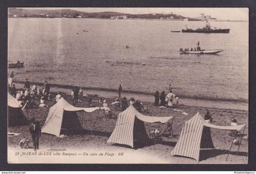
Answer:
<path fill-rule="evenodd" d="M 172 150 L 171 155 L 187 156 L 199 161 L 200 148 L 214 148 L 210 128 L 239 131 L 245 128 L 245 124 L 237 126 L 209 124 L 198 112 L 183 125 L 179 140 Z"/>

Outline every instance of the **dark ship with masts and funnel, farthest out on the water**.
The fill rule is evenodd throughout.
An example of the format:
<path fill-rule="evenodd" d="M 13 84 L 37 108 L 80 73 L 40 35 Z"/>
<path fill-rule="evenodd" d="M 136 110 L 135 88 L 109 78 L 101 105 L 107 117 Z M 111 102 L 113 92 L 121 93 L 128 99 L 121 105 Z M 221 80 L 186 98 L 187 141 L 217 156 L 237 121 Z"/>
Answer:
<path fill-rule="evenodd" d="M 206 26 L 201 28 L 193 29 L 183 29 L 182 33 L 229 33 L 230 29 L 217 29 L 214 27 L 213 29 L 210 26 L 210 23 L 206 21 Z"/>

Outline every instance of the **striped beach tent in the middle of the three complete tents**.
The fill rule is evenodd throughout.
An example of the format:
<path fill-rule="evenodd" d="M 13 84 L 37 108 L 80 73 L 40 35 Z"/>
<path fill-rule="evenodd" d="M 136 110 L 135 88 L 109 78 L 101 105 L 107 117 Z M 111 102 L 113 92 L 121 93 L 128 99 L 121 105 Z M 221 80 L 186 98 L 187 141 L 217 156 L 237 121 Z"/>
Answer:
<path fill-rule="evenodd" d="M 133 148 L 133 141 L 144 142 L 149 137 L 144 122 L 168 122 L 172 117 L 151 117 L 139 113 L 132 105 L 118 114 L 116 127 L 108 139 L 108 143 L 125 144 Z"/>

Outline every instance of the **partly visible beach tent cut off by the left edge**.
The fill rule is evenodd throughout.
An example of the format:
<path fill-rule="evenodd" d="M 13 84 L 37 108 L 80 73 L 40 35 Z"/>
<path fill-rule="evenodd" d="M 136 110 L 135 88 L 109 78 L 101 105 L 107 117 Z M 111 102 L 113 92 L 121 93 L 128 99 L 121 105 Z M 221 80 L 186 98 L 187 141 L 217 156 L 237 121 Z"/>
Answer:
<path fill-rule="evenodd" d="M 8 103 L 8 127 L 14 127 L 18 125 L 26 125 L 27 118 L 21 110 L 18 100 L 7 93 Z"/>

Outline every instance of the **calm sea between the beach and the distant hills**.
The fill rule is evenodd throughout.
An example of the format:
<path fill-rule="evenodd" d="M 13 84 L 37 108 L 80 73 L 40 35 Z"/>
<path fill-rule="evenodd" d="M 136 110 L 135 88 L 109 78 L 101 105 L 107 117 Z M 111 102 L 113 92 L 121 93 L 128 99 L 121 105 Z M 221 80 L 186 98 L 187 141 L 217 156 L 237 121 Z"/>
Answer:
<path fill-rule="evenodd" d="M 230 33 L 173 33 L 202 21 L 10 18 L 9 62 L 24 61 L 16 80 L 247 102 L 248 25 L 210 22 Z M 85 30 L 85 31 L 84 31 Z M 180 47 L 224 49 L 219 55 L 180 55 Z M 129 49 L 126 49 L 126 45 Z M 144 64 L 144 65 L 143 65 Z"/>

